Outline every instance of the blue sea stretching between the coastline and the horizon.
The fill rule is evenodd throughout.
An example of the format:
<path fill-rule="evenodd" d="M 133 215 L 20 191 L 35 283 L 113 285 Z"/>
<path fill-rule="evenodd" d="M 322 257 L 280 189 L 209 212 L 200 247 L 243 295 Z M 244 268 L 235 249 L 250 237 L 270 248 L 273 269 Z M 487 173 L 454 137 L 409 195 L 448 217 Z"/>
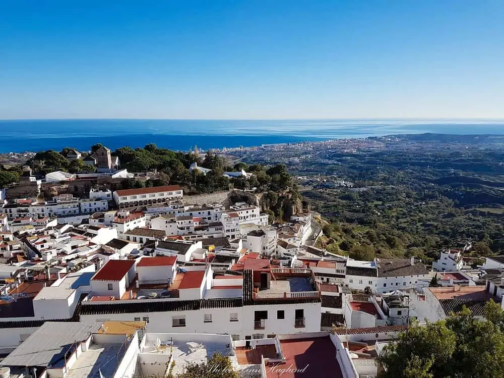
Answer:
<path fill-rule="evenodd" d="M 87 151 L 97 142 L 188 151 L 390 134 L 504 134 L 504 120 L 4 120 L 0 131 L 0 153 Z"/>

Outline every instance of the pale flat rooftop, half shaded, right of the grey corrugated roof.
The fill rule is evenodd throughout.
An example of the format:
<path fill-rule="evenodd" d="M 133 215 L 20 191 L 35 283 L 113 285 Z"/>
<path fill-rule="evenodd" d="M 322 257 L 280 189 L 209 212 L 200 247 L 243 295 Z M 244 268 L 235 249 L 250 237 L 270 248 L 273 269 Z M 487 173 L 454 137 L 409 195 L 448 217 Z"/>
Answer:
<path fill-rule="evenodd" d="M 77 358 L 66 378 L 99 377 L 99 371 L 104 377 L 114 376 L 124 352 L 124 344 L 91 344 Z"/>

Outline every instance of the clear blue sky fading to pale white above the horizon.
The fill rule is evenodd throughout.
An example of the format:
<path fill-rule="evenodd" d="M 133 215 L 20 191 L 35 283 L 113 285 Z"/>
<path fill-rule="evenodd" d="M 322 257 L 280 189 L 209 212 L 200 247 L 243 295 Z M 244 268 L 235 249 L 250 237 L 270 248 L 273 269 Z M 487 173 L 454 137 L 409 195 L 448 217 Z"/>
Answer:
<path fill-rule="evenodd" d="M 0 119 L 504 118 L 502 0 L 4 0 Z"/>

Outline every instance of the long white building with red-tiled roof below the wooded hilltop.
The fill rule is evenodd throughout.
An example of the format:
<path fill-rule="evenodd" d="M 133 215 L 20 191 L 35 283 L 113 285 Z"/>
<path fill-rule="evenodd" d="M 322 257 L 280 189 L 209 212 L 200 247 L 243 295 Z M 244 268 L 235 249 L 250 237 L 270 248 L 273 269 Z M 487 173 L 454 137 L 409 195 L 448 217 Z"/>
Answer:
<path fill-rule="evenodd" d="M 158 186 L 154 188 L 117 190 L 113 193 L 119 207 L 149 205 L 182 198 L 182 189 L 178 185 Z"/>

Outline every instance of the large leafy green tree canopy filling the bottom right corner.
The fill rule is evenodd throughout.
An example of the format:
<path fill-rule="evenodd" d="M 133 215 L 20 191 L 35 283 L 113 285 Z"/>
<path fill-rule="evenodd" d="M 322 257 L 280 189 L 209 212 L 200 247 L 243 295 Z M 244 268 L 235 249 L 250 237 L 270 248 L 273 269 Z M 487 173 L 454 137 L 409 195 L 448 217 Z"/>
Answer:
<path fill-rule="evenodd" d="M 490 300 L 484 312 L 484 321 L 464 308 L 446 320 L 413 324 L 385 347 L 380 378 L 504 376 L 504 311 Z"/>

